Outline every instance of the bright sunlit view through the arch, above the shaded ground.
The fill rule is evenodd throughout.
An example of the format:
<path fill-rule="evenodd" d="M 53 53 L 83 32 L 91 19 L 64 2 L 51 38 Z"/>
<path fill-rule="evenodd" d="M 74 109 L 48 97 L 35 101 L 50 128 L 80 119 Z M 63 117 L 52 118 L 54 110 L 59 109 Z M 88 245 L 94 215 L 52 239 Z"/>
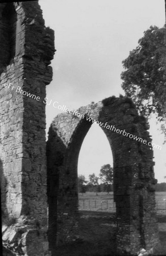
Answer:
<path fill-rule="evenodd" d="M 110 143 L 97 124 L 90 127 L 78 156 L 78 200 L 79 210 L 115 211 L 113 156 Z"/>

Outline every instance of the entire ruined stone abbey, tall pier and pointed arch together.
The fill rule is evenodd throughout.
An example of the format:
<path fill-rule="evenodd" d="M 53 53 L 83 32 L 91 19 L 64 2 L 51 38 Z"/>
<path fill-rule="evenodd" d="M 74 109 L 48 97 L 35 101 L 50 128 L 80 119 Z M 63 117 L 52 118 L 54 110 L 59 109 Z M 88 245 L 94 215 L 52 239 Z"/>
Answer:
<path fill-rule="evenodd" d="M 38 1 L 1 3 L 0 14 L 3 244 L 13 255 L 48 256 L 79 237 L 78 154 L 92 125 L 85 117 L 147 141 L 149 126 L 130 99 L 110 97 L 78 109 L 84 118 L 57 115 L 46 145 L 43 100 L 52 80 L 54 32 L 45 27 Z M 159 246 L 153 150 L 101 129 L 114 159 L 117 255 L 136 255 L 142 247 L 152 253 Z"/>

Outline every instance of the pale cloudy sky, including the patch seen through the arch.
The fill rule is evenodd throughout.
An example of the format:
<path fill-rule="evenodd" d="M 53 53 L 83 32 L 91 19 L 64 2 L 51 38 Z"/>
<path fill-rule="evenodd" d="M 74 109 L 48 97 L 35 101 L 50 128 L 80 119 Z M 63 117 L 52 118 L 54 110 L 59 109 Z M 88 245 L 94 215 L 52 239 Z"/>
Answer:
<path fill-rule="evenodd" d="M 47 86 L 49 100 L 69 109 L 90 102 L 124 94 L 121 88 L 122 60 L 138 45 L 143 32 L 151 25 L 163 27 L 164 0 L 40 0 L 45 25 L 55 30 L 56 53 L 52 61 L 53 81 Z M 47 131 L 60 110 L 47 106 Z M 153 142 L 162 146 L 155 119 L 150 133 Z M 166 181 L 162 150 L 154 150 L 155 176 Z M 82 143 L 78 174 L 113 165 L 111 149 L 100 127 L 93 125 Z"/>

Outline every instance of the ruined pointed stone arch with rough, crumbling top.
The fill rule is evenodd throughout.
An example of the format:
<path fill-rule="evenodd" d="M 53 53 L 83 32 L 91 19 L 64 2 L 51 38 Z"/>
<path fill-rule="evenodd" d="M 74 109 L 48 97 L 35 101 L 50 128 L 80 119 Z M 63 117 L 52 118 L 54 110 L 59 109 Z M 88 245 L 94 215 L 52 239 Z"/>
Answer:
<path fill-rule="evenodd" d="M 113 152 L 117 253 L 133 255 L 142 247 L 150 250 L 157 246 L 153 151 L 147 144 L 125 136 L 128 133 L 151 141 L 146 120 L 126 97 L 110 97 L 73 112 L 65 107 L 64 112 L 53 120 L 47 142 L 51 250 L 55 240 L 56 244 L 68 242 L 79 234 L 78 154 L 94 120 L 105 132 Z"/>

